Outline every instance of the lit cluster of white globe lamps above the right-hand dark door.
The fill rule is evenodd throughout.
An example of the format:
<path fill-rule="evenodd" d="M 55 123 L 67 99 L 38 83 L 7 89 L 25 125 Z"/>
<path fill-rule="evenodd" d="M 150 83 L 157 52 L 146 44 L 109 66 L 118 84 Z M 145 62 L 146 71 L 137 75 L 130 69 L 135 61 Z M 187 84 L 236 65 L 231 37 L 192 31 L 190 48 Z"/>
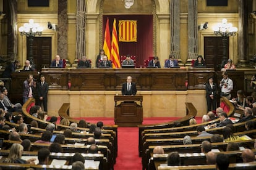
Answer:
<path fill-rule="evenodd" d="M 232 23 L 227 22 L 228 20 L 223 18 L 221 23 L 217 23 L 213 26 L 213 33 L 221 36 L 235 36 L 237 28 L 234 27 Z"/>

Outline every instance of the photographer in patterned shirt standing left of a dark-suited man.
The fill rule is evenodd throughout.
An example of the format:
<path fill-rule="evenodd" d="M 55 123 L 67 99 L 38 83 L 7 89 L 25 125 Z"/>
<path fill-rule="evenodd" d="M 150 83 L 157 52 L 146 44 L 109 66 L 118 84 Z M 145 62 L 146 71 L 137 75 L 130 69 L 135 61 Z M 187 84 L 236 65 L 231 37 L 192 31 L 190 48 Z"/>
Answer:
<path fill-rule="evenodd" d="M 36 87 L 36 82 L 33 75 L 28 75 L 28 78 L 23 82 L 23 103 L 27 102 L 28 98 L 33 97 L 33 89 Z"/>

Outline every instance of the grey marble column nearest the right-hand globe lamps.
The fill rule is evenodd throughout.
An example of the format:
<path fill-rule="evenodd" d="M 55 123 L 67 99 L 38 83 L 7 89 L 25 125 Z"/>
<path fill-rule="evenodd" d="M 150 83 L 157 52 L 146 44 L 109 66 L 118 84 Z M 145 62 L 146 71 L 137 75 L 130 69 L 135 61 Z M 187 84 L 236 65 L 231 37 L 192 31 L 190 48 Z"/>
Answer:
<path fill-rule="evenodd" d="M 189 38 L 188 59 L 197 59 L 197 53 L 198 53 L 197 0 L 189 0 L 187 29 L 188 29 L 188 38 Z"/>

